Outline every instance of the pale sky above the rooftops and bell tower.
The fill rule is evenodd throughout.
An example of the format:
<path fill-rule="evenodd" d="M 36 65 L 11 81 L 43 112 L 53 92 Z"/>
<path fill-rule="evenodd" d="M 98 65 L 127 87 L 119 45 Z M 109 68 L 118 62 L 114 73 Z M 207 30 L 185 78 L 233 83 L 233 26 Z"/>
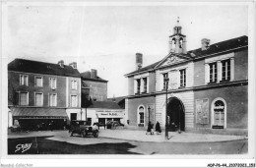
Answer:
<path fill-rule="evenodd" d="M 220 3 L 221 4 L 221 3 Z M 248 35 L 244 5 L 8 6 L 4 14 L 3 47 L 8 62 L 24 58 L 49 63 L 78 63 L 80 73 L 97 70 L 108 81 L 107 96 L 128 94 L 125 74 L 168 54 L 168 36 L 177 17 L 187 36 L 187 50 Z"/>

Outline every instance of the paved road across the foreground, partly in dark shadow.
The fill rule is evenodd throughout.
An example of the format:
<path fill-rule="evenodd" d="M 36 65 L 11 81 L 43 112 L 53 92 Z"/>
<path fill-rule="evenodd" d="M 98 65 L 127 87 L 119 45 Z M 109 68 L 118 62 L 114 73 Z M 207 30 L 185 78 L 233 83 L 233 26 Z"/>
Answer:
<path fill-rule="evenodd" d="M 32 146 L 23 152 L 22 148 L 17 148 L 18 144 Z M 248 140 L 153 142 L 92 137 L 84 139 L 80 136 L 70 138 L 67 133 L 64 133 L 36 139 L 9 139 L 8 149 L 9 154 L 243 154 L 248 151 Z M 19 150 L 15 152 L 17 149 Z"/>

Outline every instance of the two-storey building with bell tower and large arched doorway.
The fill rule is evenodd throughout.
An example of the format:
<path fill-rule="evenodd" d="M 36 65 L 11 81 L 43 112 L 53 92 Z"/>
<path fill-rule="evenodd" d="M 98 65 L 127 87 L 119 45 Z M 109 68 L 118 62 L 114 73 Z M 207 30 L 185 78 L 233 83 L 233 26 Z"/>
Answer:
<path fill-rule="evenodd" d="M 160 122 L 169 131 L 246 134 L 248 129 L 248 39 L 240 36 L 186 51 L 179 24 L 169 36 L 169 53 L 159 62 L 125 75 L 129 125 Z"/>

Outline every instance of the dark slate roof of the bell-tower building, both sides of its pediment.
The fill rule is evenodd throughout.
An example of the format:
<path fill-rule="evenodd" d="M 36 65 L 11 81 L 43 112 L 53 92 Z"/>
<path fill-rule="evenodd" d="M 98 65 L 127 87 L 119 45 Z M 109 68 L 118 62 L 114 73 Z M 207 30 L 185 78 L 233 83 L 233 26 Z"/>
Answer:
<path fill-rule="evenodd" d="M 181 56 L 196 59 L 196 58 L 207 56 L 207 55 L 210 55 L 210 54 L 215 54 L 215 53 L 224 52 L 224 51 L 227 51 L 227 50 L 232 50 L 232 49 L 242 47 L 242 46 L 248 46 L 248 36 L 246 36 L 246 35 L 239 36 L 239 37 L 232 38 L 232 39 L 228 39 L 228 40 L 224 40 L 222 42 L 214 43 L 214 44 L 210 45 L 210 47 L 207 50 L 202 51 L 201 48 L 198 48 L 198 49 L 195 49 L 195 50 L 190 50 L 190 51 L 187 52 L 186 55 L 182 54 Z M 175 54 L 175 53 L 173 53 L 173 54 Z M 134 74 L 137 74 L 137 73 L 141 73 L 141 72 L 145 72 L 145 71 L 146 72 L 151 71 L 160 62 L 161 62 L 161 60 L 159 62 L 151 64 L 147 67 L 144 67 L 144 68 L 136 70 L 132 73 L 126 74 L 125 76 L 128 77 L 128 76 L 131 76 L 131 75 L 134 75 Z"/>

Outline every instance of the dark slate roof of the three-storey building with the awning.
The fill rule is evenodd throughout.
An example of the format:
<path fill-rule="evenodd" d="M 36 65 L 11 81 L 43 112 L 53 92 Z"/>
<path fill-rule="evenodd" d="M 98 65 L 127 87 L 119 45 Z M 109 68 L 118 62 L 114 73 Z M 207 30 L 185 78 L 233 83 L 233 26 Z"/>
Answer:
<path fill-rule="evenodd" d="M 73 69 L 71 66 L 64 65 L 64 67 L 61 68 L 58 64 L 18 58 L 8 64 L 8 71 L 80 78 L 79 71 Z"/>

